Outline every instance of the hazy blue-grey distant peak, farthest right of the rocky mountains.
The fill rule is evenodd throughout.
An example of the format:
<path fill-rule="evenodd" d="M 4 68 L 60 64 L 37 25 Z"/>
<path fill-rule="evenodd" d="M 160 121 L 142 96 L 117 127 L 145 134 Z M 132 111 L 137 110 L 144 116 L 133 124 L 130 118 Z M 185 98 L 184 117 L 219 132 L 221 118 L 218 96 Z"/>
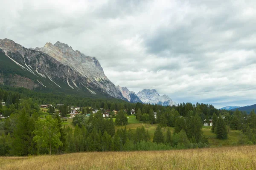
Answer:
<path fill-rule="evenodd" d="M 160 96 L 155 89 L 143 89 L 137 93 L 137 96 L 143 103 L 150 103 L 152 105 L 172 106 L 177 105 L 166 95 Z"/>

